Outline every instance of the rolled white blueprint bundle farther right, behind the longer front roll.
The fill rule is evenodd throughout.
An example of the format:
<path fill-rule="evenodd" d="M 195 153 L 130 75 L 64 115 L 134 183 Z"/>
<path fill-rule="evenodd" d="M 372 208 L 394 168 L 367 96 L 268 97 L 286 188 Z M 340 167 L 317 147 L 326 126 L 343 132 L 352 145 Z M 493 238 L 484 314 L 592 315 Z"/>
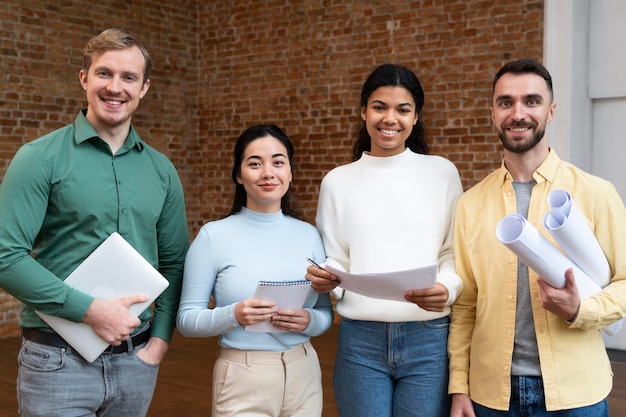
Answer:
<path fill-rule="evenodd" d="M 543 216 L 543 226 L 567 256 L 600 287 L 611 280 L 611 266 L 591 227 L 565 190 L 548 195 L 551 210 Z"/>

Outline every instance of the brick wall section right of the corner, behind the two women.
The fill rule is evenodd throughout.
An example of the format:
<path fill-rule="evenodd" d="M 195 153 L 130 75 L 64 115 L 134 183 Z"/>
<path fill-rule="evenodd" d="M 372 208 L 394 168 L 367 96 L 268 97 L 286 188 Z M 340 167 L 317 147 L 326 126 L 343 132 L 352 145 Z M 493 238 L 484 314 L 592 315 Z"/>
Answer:
<path fill-rule="evenodd" d="M 294 188 L 312 220 L 320 179 L 350 160 L 362 83 L 385 62 L 418 74 L 432 152 L 468 187 L 500 161 L 493 75 L 542 56 L 542 1 L 220 1 L 199 14 L 200 221 L 227 210 L 232 143 L 256 122 L 296 143 Z"/>

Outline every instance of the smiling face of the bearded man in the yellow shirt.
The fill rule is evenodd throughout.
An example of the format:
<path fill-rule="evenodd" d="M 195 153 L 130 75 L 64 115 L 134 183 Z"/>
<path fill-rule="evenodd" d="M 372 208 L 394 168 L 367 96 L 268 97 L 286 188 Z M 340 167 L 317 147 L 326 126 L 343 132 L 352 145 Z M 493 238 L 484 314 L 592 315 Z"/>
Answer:
<path fill-rule="evenodd" d="M 545 135 L 546 126 L 554 117 L 546 81 L 537 74 L 504 74 L 493 92 L 491 120 L 504 149 L 525 153 L 534 149 Z"/>

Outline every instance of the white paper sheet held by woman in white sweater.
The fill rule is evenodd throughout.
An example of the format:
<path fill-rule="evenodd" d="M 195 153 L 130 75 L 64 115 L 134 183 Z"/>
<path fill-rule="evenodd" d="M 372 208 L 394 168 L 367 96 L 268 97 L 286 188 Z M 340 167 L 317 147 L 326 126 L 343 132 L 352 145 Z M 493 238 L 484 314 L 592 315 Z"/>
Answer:
<path fill-rule="evenodd" d="M 385 300 L 404 301 L 408 290 L 421 290 L 435 286 L 437 265 L 405 271 L 377 274 L 349 274 L 327 265 L 324 269 L 339 277 L 339 286 L 347 291 Z"/>

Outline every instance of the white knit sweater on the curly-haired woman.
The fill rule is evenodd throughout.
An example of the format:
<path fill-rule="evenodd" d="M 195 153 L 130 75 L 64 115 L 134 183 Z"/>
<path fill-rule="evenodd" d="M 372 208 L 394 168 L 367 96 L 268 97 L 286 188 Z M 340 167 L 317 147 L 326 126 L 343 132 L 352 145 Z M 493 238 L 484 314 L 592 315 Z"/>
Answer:
<path fill-rule="evenodd" d="M 391 157 L 364 153 L 331 170 L 321 184 L 316 217 L 327 263 L 355 274 L 438 264 L 437 281 L 449 291 L 448 308 L 435 313 L 338 288 L 337 312 L 383 322 L 448 315 L 462 288 L 452 252 L 452 220 L 462 192 L 452 162 L 409 149 Z"/>

